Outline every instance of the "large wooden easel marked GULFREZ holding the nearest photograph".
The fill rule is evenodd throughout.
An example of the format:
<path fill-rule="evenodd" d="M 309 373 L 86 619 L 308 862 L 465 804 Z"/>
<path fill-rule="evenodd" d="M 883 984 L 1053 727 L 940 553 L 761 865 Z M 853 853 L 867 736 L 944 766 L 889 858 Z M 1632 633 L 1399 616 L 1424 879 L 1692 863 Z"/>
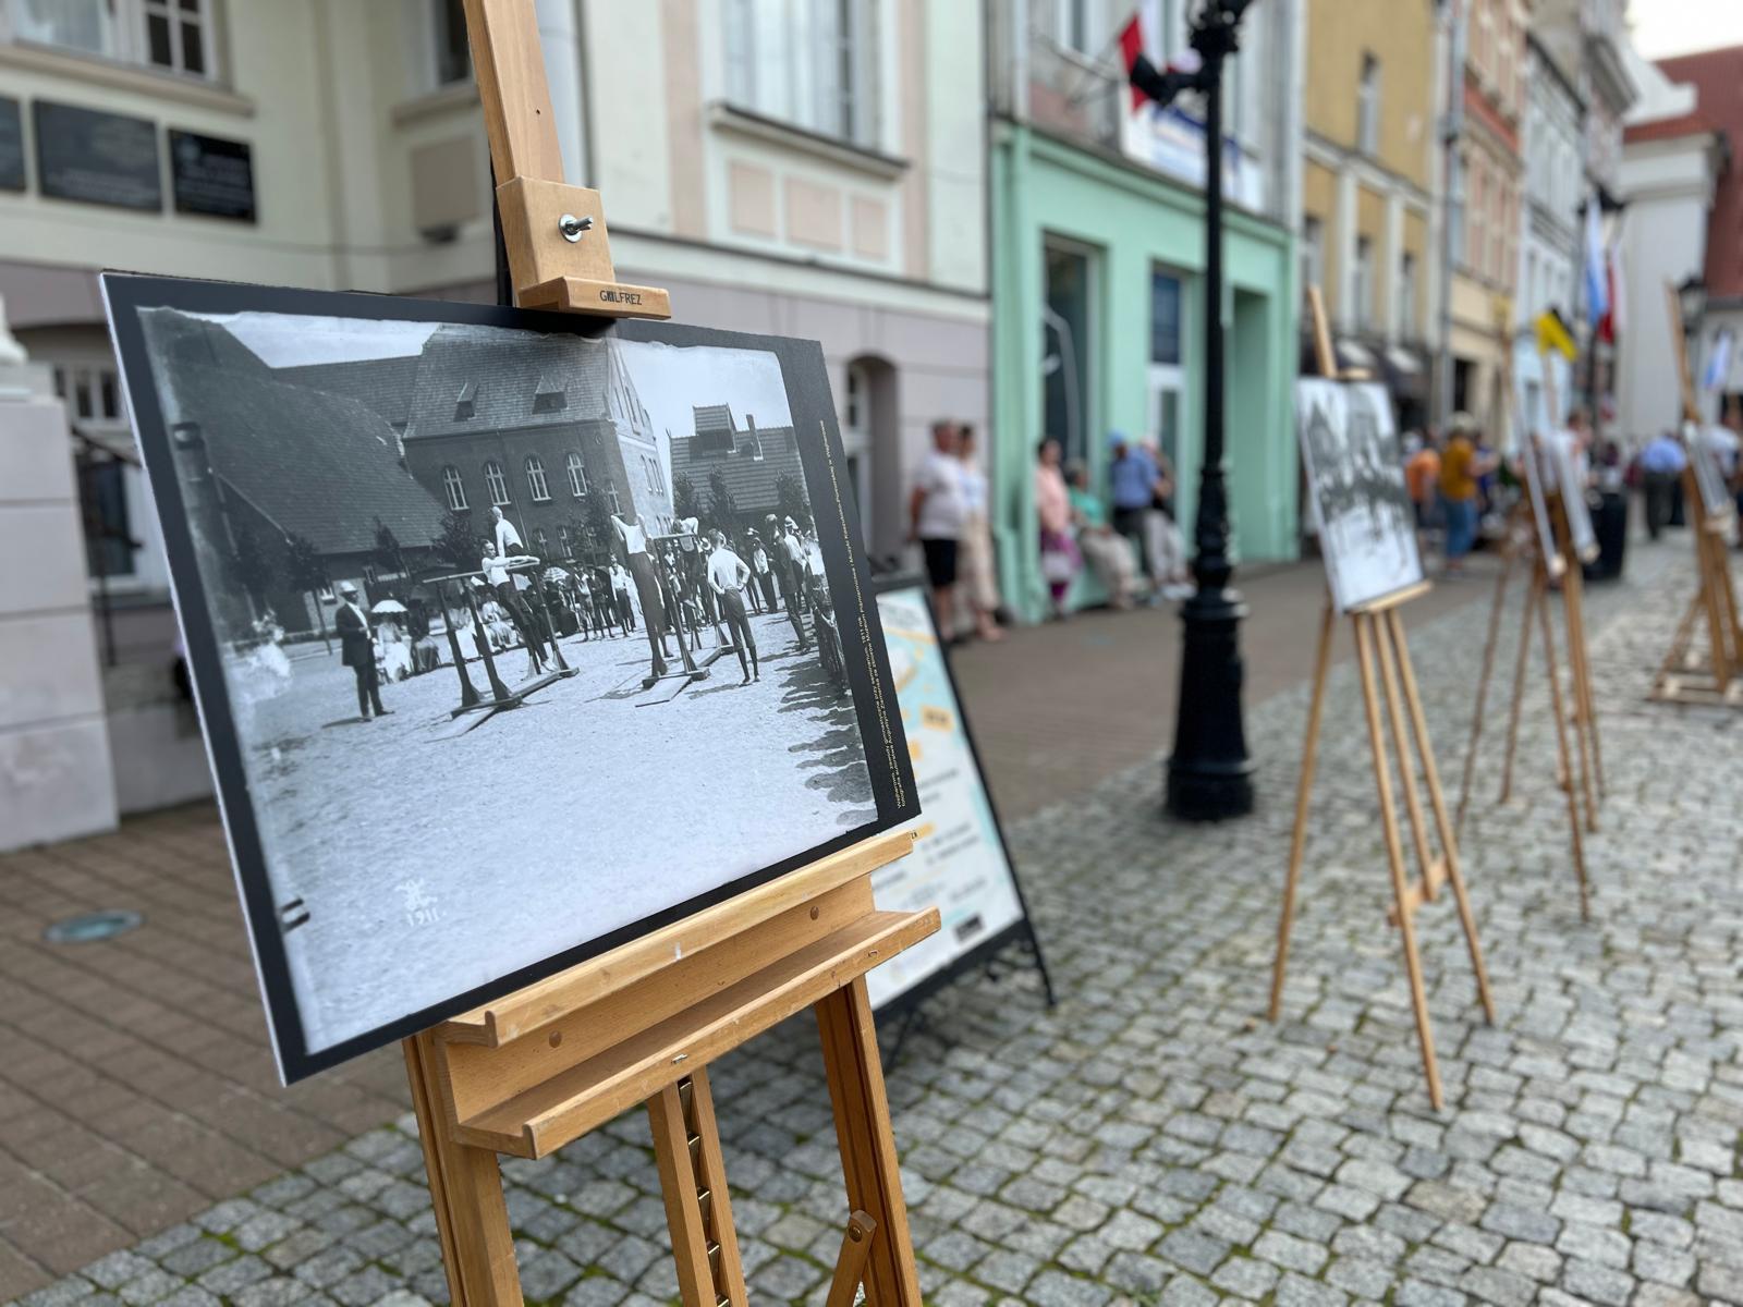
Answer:
<path fill-rule="evenodd" d="M 596 192 L 565 186 L 528 0 L 465 0 L 518 300 L 669 315 L 615 281 Z M 582 227 L 577 220 L 591 218 Z M 872 873 L 912 847 L 880 835 L 404 1040 L 455 1307 L 519 1304 L 498 1154 L 547 1157 L 636 1103 L 654 1133 L 687 1307 L 746 1304 L 708 1063 L 812 1007 L 847 1187 L 830 1307 L 859 1286 L 919 1307 L 865 974 L 938 931 L 877 911 Z"/>

